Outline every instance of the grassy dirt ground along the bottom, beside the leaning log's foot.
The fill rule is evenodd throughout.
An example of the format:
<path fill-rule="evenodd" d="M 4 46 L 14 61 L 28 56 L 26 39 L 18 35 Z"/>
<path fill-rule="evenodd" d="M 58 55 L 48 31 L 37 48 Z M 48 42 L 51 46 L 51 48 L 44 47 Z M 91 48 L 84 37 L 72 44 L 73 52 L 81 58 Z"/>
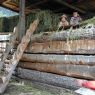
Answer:
<path fill-rule="evenodd" d="M 34 88 L 29 82 L 12 80 L 2 95 L 74 95 L 71 91 L 63 90 L 60 93 L 49 92 Z"/>

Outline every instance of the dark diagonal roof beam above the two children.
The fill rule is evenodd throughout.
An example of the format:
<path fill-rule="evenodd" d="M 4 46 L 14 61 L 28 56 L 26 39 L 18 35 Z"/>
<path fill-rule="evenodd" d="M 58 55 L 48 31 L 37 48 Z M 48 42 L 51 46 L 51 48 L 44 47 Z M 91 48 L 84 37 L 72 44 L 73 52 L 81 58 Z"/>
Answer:
<path fill-rule="evenodd" d="M 78 7 L 75 7 L 74 5 L 71 5 L 71 4 L 69 4 L 69 3 L 66 3 L 66 2 L 63 1 L 63 0 L 55 0 L 55 1 L 58 2 L 58 3 L 60 3 L 60 4 L 63 4 L 63 5 L 65 5 L 65 6 L 67 6 L 67 7 L 71 8 L 71 9 L 73 9 L 73 10 L 76 10 L 76 11 L 78 11 L 78 12 L 86 13 L 86 11 L 84 11 L 84 10 L 78 8 Z"/>

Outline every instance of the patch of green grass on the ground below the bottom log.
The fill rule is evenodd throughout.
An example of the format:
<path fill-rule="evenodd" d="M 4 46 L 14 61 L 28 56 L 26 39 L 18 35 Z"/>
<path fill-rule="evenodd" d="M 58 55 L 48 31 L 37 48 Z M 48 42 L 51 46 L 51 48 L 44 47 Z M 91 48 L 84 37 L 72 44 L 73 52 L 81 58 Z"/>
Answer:
<path fill-rule="evenodd" d="M 54 95 L 47 91 L 41 91 L 36 88 L 33 88 L 32 85 L 29 84 L 21 84 L 21 83 L 10 83 L 4 95 L 24 95 L 22 93 L 31 93 L 29 95 Z M 28 94 L 25 94 L 28 95 Z"/>

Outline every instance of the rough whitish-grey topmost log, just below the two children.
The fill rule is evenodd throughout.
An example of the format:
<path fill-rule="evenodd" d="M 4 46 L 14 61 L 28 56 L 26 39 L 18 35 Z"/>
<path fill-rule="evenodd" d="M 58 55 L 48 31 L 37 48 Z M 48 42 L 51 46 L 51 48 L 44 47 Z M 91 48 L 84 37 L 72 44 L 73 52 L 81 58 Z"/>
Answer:
<path fill-rule="evenodd" d="M 31 42 L 46 42 L 46 41 L 67 41 L 67 40 L 79 40 L 79 39 L 95 39 L 95 29 L 76 29 L 65 30 L 60 32 L 45 32 L 35 34 L 31 37 Z"/>

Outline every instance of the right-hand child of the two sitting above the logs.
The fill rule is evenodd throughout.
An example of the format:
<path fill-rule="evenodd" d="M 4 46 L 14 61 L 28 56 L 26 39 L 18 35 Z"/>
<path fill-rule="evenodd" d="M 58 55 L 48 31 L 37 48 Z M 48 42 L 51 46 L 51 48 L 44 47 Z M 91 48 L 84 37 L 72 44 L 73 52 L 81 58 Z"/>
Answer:
<path fill-rule="evenodd" d="M 80 22 L 82 21 L 81 17 L 79 16 L 78 12 L 73 13 L 73 17 L 71 17 L 70 25 L 76 29 L 79 28 Z"/>

